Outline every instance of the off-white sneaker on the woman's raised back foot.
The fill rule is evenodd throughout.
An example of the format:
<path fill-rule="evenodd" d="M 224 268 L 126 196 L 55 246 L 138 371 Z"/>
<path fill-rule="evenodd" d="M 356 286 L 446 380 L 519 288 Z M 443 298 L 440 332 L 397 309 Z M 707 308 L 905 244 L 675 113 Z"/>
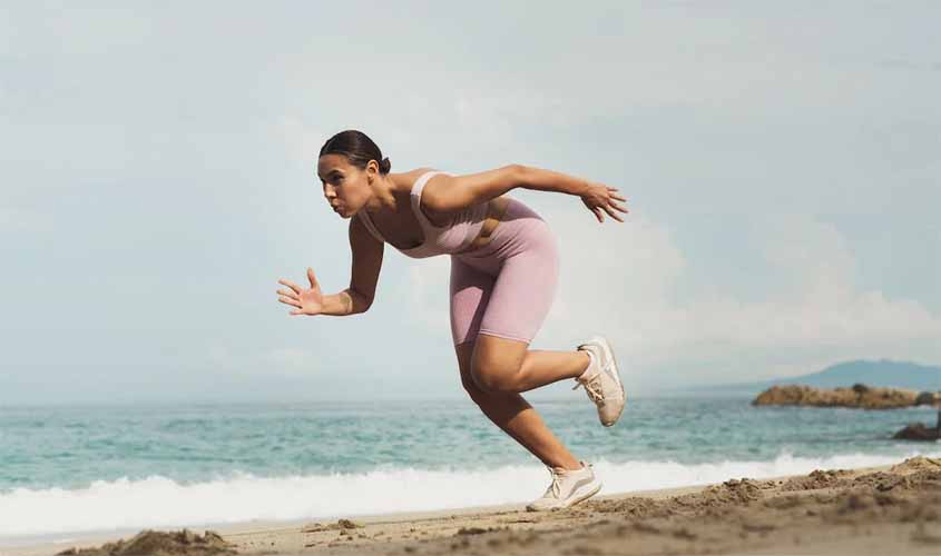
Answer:
<path fill-rule="evenodd" d="M 618 375 L 618 364 L 611 346 L 601 336 L 595 336 L 578 346 L 579 350 L 588 351 L 591 363 L 580 377 L 577 385 L 585 387 L 588 398 L 598 406 L 598 419 L 601 425 L 610 427 L 620 418 L 627 397 Z"/>

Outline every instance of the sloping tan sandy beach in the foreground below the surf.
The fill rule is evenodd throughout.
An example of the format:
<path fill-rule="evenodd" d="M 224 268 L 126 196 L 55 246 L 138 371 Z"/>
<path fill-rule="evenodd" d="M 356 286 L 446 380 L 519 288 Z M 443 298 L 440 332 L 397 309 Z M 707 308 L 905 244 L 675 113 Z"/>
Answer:
<path fill-rule="evenodd" d="M 214 529 L 215 544 L 158 533 L 159 554 L 931 554 L 941 552 L 941 460 L 816 470 L 777 479 L 598 496 L 560 512 L 508 505 Z M 202 530 L 194 533 L 202 534 Z M 0 549 L 3 556 L 69 550 L 137 554 L 116 538 Z M 228 546 L 226 546 L 228 545 Z M 94 550 L 94 547 L 106 550 Z"/>

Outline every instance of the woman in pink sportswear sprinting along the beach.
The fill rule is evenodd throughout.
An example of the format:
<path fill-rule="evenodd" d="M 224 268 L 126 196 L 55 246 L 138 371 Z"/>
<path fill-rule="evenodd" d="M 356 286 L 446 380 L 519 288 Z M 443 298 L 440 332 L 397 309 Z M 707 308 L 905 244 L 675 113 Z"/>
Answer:
<path fill-rule="evenodd" d="M 581 197 L 599 222 L 624 220 L 617 189 L 563 173 L 511 165 L 467 176 L 430 168 L 390 173 L 379 147 L 356 130 L 326 141 L 317 176 L 326 201 L 350 218 L 350 287 L 323 295 L 307 268 L 310 288 L 285 279 L 278 299 L 291 315 L 355 315 L 372 305 L 384 244 L 412 258 L 451 257 L 451 335 L 461 381 L 497 426 L 548 468 L 552 483 L 529 510 L 563 508 L 601 488 L 591 464 L 576 459 L 520 396 L 574 378 L 605 426 L 625 405 L 610 345 L 594 337 L 572 351 L 530 350 L 549 311 L 558 278 L 556 238 L 532 209 L 503 196 L 514 187 Z"/>

